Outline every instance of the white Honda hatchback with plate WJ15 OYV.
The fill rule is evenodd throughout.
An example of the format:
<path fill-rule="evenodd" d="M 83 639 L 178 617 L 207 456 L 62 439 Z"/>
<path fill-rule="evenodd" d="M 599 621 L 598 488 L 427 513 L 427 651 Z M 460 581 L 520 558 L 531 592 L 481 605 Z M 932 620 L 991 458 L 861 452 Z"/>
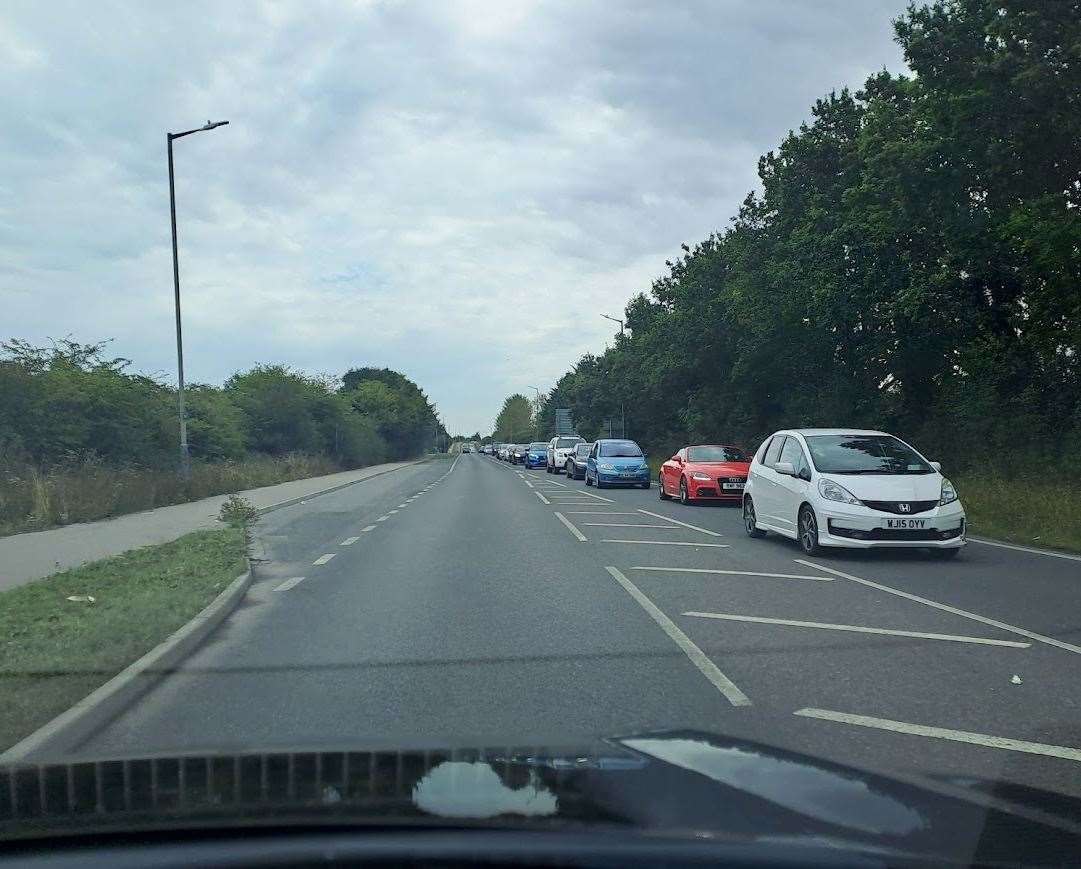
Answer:
<path fill-rule="evenodd" d="M 951 558 L 965 516 L 937 462 L 884 431 L 778 431 L 758 449 L 744 489 L 751 537 L 773 531 L 820 547 L 921 547 Z"/>

